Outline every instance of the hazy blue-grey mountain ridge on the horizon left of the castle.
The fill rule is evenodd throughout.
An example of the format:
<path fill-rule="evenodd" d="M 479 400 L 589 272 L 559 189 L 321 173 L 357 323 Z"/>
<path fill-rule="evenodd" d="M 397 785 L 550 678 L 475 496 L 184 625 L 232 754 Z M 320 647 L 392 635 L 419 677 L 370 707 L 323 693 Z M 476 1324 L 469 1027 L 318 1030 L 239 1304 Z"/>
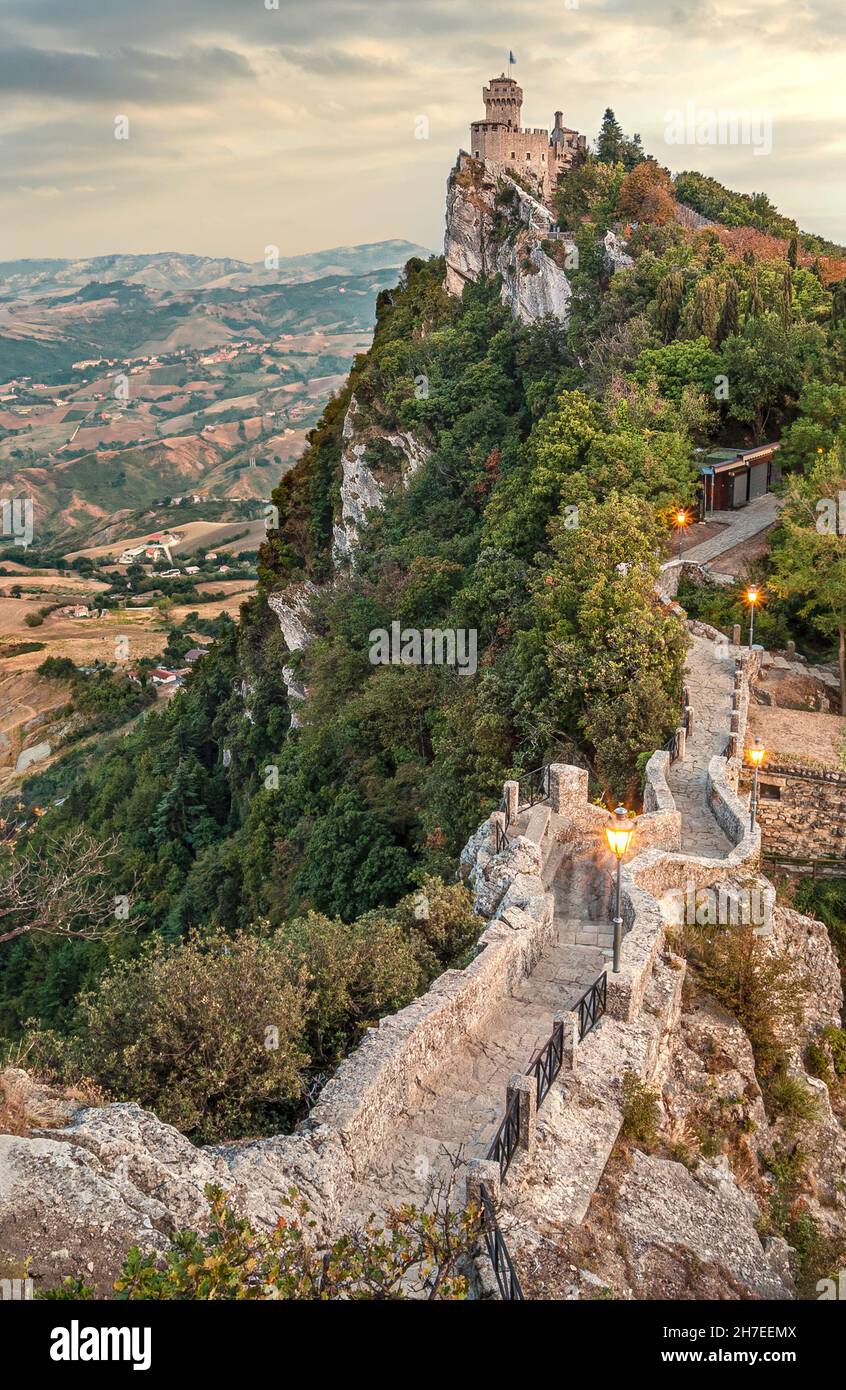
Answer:
<path fill-rule="evenodd" d="M 375 270 L 403 265 L 410 256 L 432 252 L 414 242 L 367 242 L 363 246 L 335 246 L 306 256 L 285 256 L 278 267 L 264 261 L 250 264 L 232 257 L 190 256 L 183 252 L 156 252 L 149 256 L 93 256 L 86 260 L 0 261 L 0 296 L 32 299 L 82 289 L 92 281 L 124 281 L 144 289 L 179 292 L 235 285 L 292 284 L 324 275 L 367 275 Z"/>

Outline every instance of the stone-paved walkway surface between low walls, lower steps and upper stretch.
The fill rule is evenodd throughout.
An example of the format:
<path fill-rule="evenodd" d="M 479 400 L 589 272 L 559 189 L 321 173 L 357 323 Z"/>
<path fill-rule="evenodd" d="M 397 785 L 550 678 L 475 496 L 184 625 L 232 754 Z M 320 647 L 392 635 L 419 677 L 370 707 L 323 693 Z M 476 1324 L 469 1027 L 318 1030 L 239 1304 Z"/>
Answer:
<path fill-rule="evenodd" d="M 682 849 L 722 858 L 731 844 L 706 799 L 710 759 L 725 748 L 731 719 L 733 662 L 718 659 L 713 642 L 693 638 L 688 656 L 688 688 L 695 710 L 693 735 L 683 762 L 668 781 L 682 812 Z M 518 817 L 511 834 L 526 828 Z M 551 1033 L 553 1015 L 572 1006 L 602 973 L 610 954 L 608 884 L 590 855 L 572 859 L 554 837 L 545 840 L 543 883 L 554 897 L 556 940 L 526 976 L 492 1011 L 479 1030 L 467 1034 L 429 1086 L 420 1086 L 385 1136 L 378 1156 L 350 1193 L 346 1222 L 403 1202 L 424 1205 L 432 1184 L 447 1179 L 458 1161 L 454 1187 L 461 1200 L 461 1168 L 483 1158 L 504 1113 L 506 1087 L 514 1072 L 525 1072 Z"/>

